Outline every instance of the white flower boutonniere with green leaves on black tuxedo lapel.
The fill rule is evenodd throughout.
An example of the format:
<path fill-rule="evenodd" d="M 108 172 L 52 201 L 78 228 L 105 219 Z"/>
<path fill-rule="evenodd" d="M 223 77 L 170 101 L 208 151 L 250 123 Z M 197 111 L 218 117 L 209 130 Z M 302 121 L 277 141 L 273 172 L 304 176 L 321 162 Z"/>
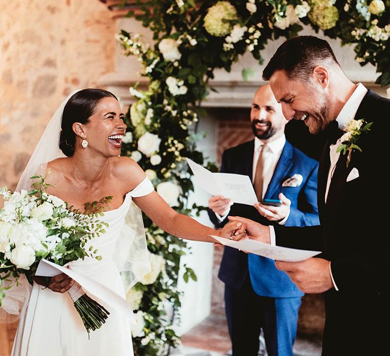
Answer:
<path fill-rule="evenodd" d="M 351 120 L 346 126 L 346 132 L 340 137 L 341 144 L 337 147 L 336 152 L 342 152 L 343 155 L 347 155 L 347 167 L 351 161 L 352 150 L 358 150 L 362 152 L 362 149 L 356 144 L 358 142 L 360 135 L 363 132 L 370 130 L 371 123 L 366 124 L 364 119 L 361 120 Z"/>

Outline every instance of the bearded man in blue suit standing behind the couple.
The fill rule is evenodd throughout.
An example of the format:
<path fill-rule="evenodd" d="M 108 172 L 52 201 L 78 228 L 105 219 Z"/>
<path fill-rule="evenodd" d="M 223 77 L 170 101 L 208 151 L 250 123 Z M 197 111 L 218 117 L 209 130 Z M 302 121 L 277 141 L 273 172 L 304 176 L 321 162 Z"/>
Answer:
<path fill-rule="evenodd" d="M 221 227 L 228 216 L 262 224 L 317 225 L 318 163 L 286 141 L 287 123 L 269 85 L 256 91 L 250 112 L 254 140 L 222 155 L 221 172 L 248 175 L 258 203 L 244 205 L 213 196 L 209 217 Z M 280 199 L 280 206 L 262 204 Z M 303 293 L 272 259 L 225 247 L 219 279 L 225 283 L 225 311 L 233 356 L 256 356 L 263 329 L 269 356 L 292 356 Z"/>

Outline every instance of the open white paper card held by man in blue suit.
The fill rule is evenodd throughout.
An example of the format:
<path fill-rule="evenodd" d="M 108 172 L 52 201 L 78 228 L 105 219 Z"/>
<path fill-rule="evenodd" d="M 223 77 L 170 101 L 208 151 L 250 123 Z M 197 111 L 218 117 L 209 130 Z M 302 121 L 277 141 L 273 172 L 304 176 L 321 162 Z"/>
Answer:
<path fill-rule="evenodd" d="M 223 195 L 234 203 L 253 205 L 258 202 L 248 175 L 213 173 L 186 158 L 194 180 L 211 195 Z"/>

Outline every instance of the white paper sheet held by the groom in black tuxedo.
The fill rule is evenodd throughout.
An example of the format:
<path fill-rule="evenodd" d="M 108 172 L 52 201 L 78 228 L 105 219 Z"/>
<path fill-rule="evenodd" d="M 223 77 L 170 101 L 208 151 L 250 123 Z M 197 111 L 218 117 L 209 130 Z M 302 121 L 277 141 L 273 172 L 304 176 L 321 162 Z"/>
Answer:
<path fill-rule="evenodd" d="M 251 239 L 234 241 L 219 238 L 218 236 L 210 236 L 222 245 L 233 247 L 235 249 L 246 251 L 249 253 L 254 253 L 255 255 L 272 258 L 278 261 L 298 262 L 321 253 L 321 251 L 298 250 L 282 246 L 271 246 L 269 244 L 265 244 L 263 242 Z"/>

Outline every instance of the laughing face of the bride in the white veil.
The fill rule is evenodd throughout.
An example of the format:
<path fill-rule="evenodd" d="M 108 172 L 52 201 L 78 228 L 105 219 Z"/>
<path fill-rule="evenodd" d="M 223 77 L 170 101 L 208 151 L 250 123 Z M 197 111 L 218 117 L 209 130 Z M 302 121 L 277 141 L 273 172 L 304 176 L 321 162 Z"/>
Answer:
<path fill-rule="evenodd" d="M 95 112 L 89 117 L 88 124 L 83 125 L 88 141 L 87 150 L 95 150 L 107 157 L 120 155 L 122 138 L 126 131 L 123 119 L 124 114 L 115 98 L 101 99 L 95 107 Z"/>

